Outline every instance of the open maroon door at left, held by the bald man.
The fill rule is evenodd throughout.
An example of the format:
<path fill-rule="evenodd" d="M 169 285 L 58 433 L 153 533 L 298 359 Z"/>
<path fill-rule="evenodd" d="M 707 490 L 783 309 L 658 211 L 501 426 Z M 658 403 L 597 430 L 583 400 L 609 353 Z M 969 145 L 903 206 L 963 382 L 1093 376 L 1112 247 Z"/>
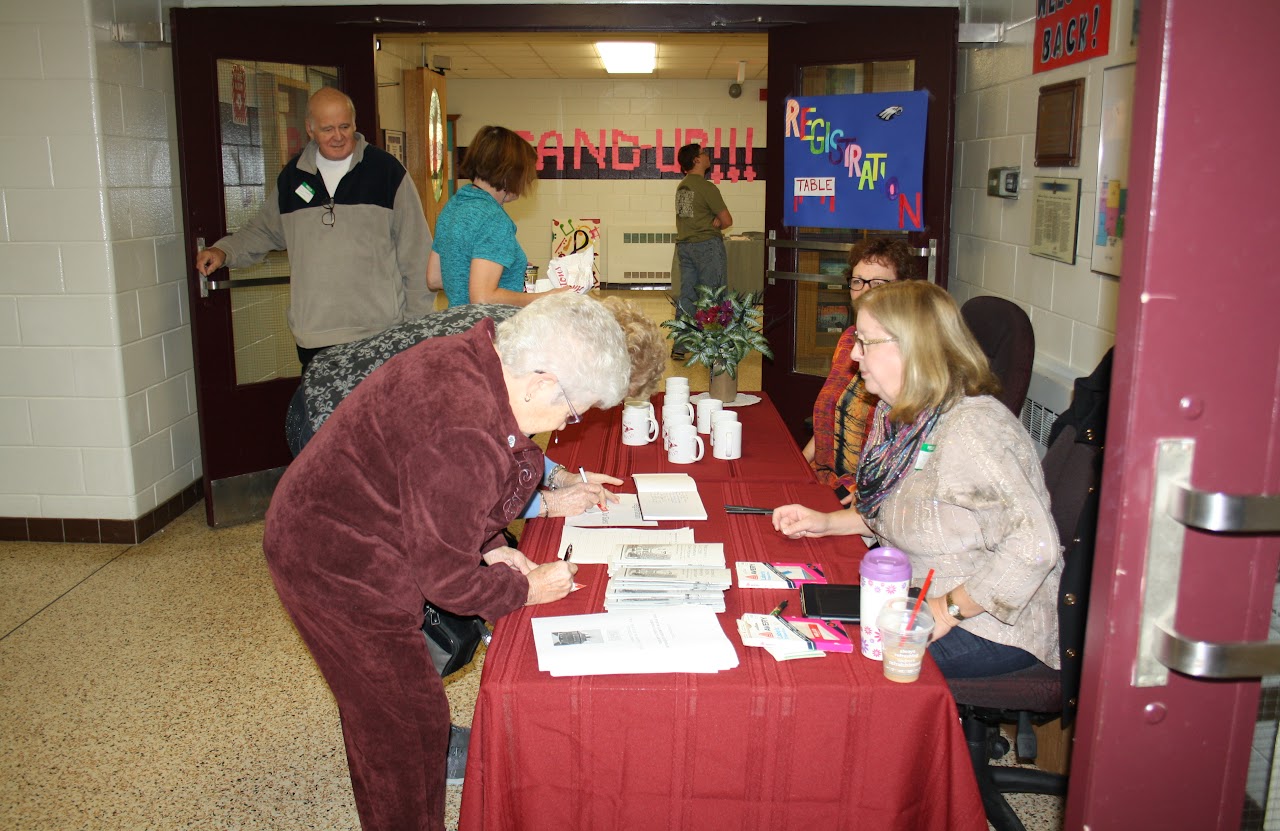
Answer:
<path fill-rule="evenodd" d="M 273 255 L 209 279 L 192 260 L 256 213 L 306 143 L 306 101 L 320 86 L 352 96 L 357 125 L 372 141 L 372 37 L 342 26 L 285 32 L 230 9 L 175 9 L 173 45 L 205 507 L 210 525 L 224 525 L 260 517 L 291 458 L 284 414 L 300 367 L 284 319 L 288 259 Z"/>

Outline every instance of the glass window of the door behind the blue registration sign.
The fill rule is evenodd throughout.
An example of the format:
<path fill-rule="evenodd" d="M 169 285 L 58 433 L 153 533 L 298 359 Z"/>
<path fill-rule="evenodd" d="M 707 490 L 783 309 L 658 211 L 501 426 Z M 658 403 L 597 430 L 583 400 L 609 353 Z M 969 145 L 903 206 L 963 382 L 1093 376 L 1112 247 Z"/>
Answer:
<path fill-rule="evenodd" d="M 858 95 L 899 92 L 915 88 L 914 60 L 878 60 L 860 64 L 804 67 L 800 76 L 803 95 Z M 794 270 L 822 275 L 824 282 L 796 283 L 796 325 L 792 370 L 826 378 L 841 333 L 852 325 L 852 305 L 845 279 L 847 245 L 867 237 L 906 233 L 864 228 L 792 228 L 800 242 L 844 243 L 819 251 L 796 251 Z M 923 269 L 923 265 L 920 266 Z"/>

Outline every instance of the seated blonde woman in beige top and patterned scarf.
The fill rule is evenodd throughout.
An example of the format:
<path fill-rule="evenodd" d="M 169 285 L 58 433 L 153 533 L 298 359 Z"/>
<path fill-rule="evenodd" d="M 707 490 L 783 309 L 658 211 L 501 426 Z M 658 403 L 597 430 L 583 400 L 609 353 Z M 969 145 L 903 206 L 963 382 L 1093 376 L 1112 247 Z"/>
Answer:
<path fill-rule="evenodd" d="M 1000 383 L 955 300 L 922 280 L 858 301 L 854 357 L 879 398 L 851 510 L 787 504 L 792 539 L 874 534 L 906 552 L 915 585 L 933 570 L 929 654 L 947 677 L 1059 667 L 1062 558 L 1039 455 L 992 397 Z"/>

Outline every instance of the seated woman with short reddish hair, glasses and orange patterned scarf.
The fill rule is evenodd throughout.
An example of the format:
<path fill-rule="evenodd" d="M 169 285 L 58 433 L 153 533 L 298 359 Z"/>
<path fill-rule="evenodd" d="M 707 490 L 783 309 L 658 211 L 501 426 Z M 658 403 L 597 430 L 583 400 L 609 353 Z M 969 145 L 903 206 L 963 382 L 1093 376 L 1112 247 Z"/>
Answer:
<path fill-rule="evenodd" d="M 893 280 L 915 279 L 915 255 L 904 239 L 863 239 L 849 252 L 849 294 L 856 303 L 868 289 Z M 858 365 L 850 359 L 856 328 L 840 337 L 831 359 L 831 373 L 813 402 L 813 438 L 804 446 L 804 457 L 818 481 L 836 488 L 849 504 L 858 455 L 863 449 L 867 417 L 876 407 L 876 396 L 867 392 Z"/>

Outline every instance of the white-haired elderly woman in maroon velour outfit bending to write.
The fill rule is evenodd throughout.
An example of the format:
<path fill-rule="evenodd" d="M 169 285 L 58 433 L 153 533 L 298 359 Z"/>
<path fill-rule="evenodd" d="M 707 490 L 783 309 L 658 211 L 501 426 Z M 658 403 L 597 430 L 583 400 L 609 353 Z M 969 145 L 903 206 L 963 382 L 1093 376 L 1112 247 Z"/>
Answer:
<path fill-rule="evenodd" d="M 338 702 L 364 828 L 444 827 L 449 706 L 422 604 L 495 620 L 568 594 L 572 563 L 534 566 L 500 531 L 543 476 L 529 437 L 617 405 L 630 370 L 604 306 L 548 296 L 389 360 L 280 480 L 266 560 Z"/>

